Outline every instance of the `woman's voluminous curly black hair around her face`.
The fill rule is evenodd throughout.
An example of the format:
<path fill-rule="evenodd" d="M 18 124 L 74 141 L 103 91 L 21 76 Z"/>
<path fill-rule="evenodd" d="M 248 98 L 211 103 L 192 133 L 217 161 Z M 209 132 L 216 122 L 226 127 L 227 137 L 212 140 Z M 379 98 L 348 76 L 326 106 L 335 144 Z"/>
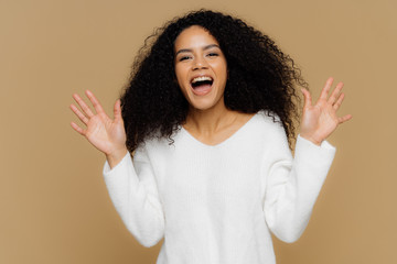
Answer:
<path fill-rule="evenodd" d="M 279 117 L 291 147 L 300 105 L 296 86 L 308 88 L 300 69 L 269 36 L 243 20 L 202 9 L 167 22 L 139 50 L 120 98 L 127 148 L 133 152 L 153 136 L 172 144 L 172 134 L 185 121 L 189 102 L 175 81 L 174 41 L 192 25 L 208 31 L 225 54 L 226 108 L 245 113 L 267 110 L 275 121 Z"/>

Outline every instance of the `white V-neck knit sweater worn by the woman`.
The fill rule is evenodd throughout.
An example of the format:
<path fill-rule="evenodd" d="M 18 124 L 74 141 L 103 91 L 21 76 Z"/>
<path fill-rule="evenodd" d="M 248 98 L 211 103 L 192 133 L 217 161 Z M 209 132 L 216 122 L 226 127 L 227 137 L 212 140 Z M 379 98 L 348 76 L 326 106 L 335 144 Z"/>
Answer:
<path fill-rule="evenodd" d="M 112 169 L 110 198 L 144 246 L 163 237 L 157 264 L 276 263 L 270 231 L 291 243 L 305 229 L 335 148 L 300 135 L 292 160 L 281 123 L 256 113 L 211 146 L 186 130 L 150 140 Z"/>

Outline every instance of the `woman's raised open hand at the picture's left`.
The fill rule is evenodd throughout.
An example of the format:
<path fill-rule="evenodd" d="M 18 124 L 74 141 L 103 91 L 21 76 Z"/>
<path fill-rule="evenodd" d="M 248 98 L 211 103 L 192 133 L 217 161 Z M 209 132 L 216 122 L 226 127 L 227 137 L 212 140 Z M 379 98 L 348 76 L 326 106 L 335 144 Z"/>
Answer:
<path fill-rule="evenodd" d="M 120 100 L 117 100 L 115 103 L 115 119 L 111 120 L 106 114 L 94 94 L 89 90 L 86 90 L 85 94 L 93 103 L 96 113 L 92 111 L 77 94 L 74 94 L 73 98 L 83 111 L 73 103 L 71 105 L 71 109 L 86 128 L 82 129 L 75 122 L 72 122 L 71 125 L 75 131 L 85 136 L 96 148 L 105 153 L 110 167 L 114 167 L 127 154 L 126 131 L 121 118 Z"/>

